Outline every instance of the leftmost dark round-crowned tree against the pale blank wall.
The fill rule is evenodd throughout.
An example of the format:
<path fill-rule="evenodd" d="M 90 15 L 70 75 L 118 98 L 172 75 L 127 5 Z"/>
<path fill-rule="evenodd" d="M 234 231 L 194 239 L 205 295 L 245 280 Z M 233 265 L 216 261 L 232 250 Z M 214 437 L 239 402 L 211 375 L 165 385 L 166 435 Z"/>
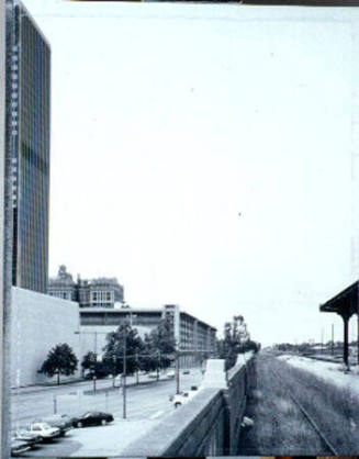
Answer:
<path fill-rule="evenodd" d="M 47 354 L 46 360 L 43 362 L 40 373 L 44 373 L 47 377 L 57 374 L 57 384 L 60 382 L 60 374 L 70 376 L 74 374 L 78 365 L 78 359 L 74 354 L 70 346 L 66 343 L 58 344 Z"/>

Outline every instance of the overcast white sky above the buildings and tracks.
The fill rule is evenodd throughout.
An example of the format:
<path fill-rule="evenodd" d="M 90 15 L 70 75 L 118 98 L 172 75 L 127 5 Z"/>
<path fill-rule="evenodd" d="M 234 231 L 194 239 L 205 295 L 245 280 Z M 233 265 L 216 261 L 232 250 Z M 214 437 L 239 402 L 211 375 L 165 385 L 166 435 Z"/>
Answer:
<path fill-rule="evenodd" d="M 341 338 L 318 304 L 359 277 L 358 11 L 25 4 L 53 53 L 51 275 L 265 344 Z"/>

